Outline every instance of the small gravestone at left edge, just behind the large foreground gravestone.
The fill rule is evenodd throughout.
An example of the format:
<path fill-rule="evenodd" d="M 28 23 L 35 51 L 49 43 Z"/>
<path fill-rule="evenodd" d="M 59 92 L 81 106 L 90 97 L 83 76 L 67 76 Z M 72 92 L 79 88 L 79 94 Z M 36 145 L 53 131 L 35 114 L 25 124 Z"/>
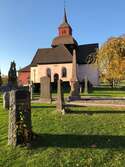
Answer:
<path fill-rule="evenodd" d="M 9 110 L 9 102 L 10 102 L 10 93 L 9 91 L 3 93 L 3 108 Z"/>

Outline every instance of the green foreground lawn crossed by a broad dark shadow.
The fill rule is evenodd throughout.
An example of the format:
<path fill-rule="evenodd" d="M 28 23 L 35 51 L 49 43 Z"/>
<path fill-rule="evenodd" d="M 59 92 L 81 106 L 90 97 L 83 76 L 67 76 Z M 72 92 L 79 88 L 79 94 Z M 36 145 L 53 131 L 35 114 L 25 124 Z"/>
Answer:
<path fill-rule="evenodd" d="M 54 105 L 32 104 L 36 139 L 31 149 L 14 149 L 7 145 L 8 112 L 0 99 L 0 167 L 124 167 L 124 109 L 71 109 L 60 115 Z"/>

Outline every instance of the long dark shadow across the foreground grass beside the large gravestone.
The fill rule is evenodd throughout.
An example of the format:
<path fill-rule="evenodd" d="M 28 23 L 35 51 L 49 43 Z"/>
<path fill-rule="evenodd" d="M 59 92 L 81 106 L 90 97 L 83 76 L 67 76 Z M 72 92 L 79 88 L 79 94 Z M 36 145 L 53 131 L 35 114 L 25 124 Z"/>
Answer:
<path fill-rule="evenodd" d="M 39 134 L 32 148 L 125 148 L 125 136 Z"/>

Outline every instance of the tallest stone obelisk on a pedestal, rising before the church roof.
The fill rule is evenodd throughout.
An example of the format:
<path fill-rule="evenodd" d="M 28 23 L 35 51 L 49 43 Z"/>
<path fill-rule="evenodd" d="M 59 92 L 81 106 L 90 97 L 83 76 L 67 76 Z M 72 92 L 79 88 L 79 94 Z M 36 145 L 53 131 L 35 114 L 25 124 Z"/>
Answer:
<path fill-rule="evenodd" d="M 76 50 L 73 50 L 73 62 L 72 62 L 72 78 L 70 81 L 71 91 L 70 91 L 70 100 L 80 99 L 80 85 L 77 77 L 77 59 L 76 59 Z"/>

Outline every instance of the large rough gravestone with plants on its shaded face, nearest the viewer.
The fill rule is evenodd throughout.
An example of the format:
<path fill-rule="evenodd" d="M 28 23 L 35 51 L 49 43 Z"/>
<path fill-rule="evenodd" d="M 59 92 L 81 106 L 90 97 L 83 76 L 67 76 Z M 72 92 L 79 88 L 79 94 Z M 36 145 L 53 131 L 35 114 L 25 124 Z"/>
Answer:
<path fill-rule="evenodd" d="M 30 93 L 24 90 L 10 91 L 8 144 L 29 144 L 31 142 Z"/>

